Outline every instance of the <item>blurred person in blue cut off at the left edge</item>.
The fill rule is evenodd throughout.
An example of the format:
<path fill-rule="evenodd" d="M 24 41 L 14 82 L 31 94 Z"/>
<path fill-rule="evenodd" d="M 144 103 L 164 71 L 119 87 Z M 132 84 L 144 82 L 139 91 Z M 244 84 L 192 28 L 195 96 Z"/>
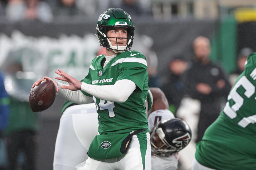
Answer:
<path fill-rule="evenodd" d="M 3 129 L 8 125 L 10 100 L 5 90 L 4 78 L 0 73 L 0 169 L 6 167 L 6 142 L 3 136 Z"/>

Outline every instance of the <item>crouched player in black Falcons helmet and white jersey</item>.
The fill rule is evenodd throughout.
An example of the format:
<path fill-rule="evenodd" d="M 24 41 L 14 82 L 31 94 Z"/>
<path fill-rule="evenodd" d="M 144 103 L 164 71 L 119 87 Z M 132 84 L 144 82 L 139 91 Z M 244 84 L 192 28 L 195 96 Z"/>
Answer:
<path fill-rule="evenodd" d="M 148 117 L 152 170 L 176 170 L 178 151 L 190 142 L 191 129 L 186 122 L 175 118 L 168 110 L 168 101 L 159 88 L 150 88 L 150 91 L 153 96 L 153 112 Z"/>

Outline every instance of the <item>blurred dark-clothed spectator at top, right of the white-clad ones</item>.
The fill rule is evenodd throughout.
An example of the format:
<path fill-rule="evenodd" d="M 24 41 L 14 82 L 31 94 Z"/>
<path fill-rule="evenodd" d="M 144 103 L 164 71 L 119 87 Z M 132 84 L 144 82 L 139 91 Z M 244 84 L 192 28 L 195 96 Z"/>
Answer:
<path fill-rule="evenodd" d="M 58 0 L 57 7 L 54 8 L 54 15 L 56 16 L 73 16 L 80 14 L 82 14 L 82 12 L 78 9 L 76 0 Z"/>

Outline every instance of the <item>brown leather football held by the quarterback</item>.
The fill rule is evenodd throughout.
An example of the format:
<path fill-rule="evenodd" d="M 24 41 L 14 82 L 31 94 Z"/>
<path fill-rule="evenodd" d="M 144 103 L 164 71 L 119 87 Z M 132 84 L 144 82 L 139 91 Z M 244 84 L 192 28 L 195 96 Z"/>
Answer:
<path fill-rule="evenodd" d="M 29 105 L 33 112 L 42 112 L 51 107 L 55 100 L 56 89 L 53 81 L 43 81 L 31 89 Z"/>

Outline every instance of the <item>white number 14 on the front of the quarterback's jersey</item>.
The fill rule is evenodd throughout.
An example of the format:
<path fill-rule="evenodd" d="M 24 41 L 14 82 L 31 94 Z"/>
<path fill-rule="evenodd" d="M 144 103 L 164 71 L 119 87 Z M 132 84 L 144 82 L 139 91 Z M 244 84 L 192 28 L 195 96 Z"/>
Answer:
<path fill-rule="evenodd" d="M 114 108 L 115 108 L 115 104 L 112 101 L 105 101 L 105 100 L 101 100 L 99 101 L 99 104 L 97 104 L 96 102 L 96 98 L 93 96 L 93 100 L 94 103 L 96 104 L 96 110 L 98 111 L 103 111 L 103 110 L 107 110 L 109 112 L 109 118 L 111 117 L 115 117 L 115 112 L 114 112 Z"/>

